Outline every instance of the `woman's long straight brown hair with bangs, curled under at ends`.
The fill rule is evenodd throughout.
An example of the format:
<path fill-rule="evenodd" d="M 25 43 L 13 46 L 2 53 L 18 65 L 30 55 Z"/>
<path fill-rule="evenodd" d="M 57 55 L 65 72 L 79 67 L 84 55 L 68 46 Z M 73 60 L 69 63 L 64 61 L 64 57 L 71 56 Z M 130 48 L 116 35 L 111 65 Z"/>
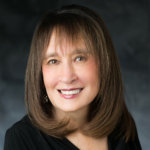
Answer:
<path fill-rule="evenodd" d="M 100 89 L 90 104 L 87 123 L 81 129 L 83 133 L 96 138 L 115 133 L 126 141 L 134 139 L 135 125 L 124 102 L 120 67 L 111 37 L 101 17 L 79 5 L 48 12 L 34 32 L 25 79 L 25 102 L 31 121 L 55 137 L 63 137 L 74 130 L 66 129 L 67 120 L 56 121 L 52 104 L 44 102 L 46 90 L 41 66 L 54 30 L 59 39 L 74 42 L 77 37 L 82 37 L 99 64 Z"/>

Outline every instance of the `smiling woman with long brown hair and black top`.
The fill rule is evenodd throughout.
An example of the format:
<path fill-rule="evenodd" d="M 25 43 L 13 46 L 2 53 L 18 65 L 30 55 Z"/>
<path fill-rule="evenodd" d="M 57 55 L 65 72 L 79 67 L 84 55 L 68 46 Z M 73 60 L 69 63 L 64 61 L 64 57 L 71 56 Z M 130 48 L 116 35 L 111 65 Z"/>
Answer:
<path fill-rule="evenodd" d="M 5 150 L 140 150 L 105 24 L 70 5 L 38 24 L 26 70 L 28 115 L 6 132 Z"/>

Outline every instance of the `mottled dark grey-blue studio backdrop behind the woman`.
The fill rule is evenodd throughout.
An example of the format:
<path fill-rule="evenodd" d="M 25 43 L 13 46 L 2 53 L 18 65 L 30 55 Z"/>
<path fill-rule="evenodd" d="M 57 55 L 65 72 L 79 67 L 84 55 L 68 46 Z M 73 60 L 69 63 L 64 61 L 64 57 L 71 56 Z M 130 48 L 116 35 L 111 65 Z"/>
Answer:
<path fill-rule="evenodd" d="M 8 127 L 25 114 L 24 73 L 39 16 L 64 4 L 82 4 L 106 23 L 121 65 L 128 108 L 144 150 L 150 149 L 149 0 L 0 1 L 0 150 Z"/>

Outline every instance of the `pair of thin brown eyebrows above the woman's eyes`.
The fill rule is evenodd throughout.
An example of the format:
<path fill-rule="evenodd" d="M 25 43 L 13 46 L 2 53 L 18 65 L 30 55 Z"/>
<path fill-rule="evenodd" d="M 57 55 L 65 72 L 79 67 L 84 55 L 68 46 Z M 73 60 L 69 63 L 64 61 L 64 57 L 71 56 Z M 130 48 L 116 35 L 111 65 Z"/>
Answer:
<path fill-rule="evenodd" d="M 76 54 L 90 54 L 91 52 L 88 51 L 87 49 L 75 49 L 73 50 L 73 52 L 71 52 L 71 55 L 76 55 Z M 49 53 L 45 56 L 45 58 L 49 58 L 49 57 L 58 57 L 58 53 L 55 51 L 55 52 L 52 52 L 52 53 Z"/>

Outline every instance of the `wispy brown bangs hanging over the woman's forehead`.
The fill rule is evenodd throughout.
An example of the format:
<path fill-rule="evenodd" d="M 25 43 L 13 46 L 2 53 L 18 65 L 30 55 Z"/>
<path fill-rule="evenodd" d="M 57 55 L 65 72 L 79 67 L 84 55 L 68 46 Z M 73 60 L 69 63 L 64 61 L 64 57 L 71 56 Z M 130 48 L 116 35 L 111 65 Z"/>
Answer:
<path fill-rule="evenodd" d="M 85 24 L 82 19 L 77 16 L 70 21 L 69 18 L 65 17 L 62 22 L 57 22 L 53 28 L 53 33 L 55 34 L 56 46 L 62 46 L 65 43 L 71 45 L 79 45 L 79 43 L 84 43 L 87 52 L 94 54 L 93 44 L 91 42 L 91 37 L 86 31 Z"/>

